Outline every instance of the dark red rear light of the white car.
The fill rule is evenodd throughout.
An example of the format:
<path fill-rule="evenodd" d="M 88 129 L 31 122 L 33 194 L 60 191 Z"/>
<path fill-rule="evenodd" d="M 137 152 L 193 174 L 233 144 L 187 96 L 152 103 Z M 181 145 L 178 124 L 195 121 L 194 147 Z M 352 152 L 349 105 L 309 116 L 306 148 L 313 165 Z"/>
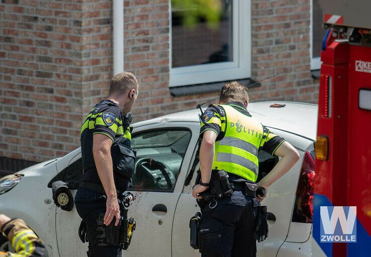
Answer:
<path fill-rule="evenodd" d="M 313 220 L 313 180 L 314 158 L 309 151 L 304 154 L 295 196 L 293 222 L 312 223 Z"/>

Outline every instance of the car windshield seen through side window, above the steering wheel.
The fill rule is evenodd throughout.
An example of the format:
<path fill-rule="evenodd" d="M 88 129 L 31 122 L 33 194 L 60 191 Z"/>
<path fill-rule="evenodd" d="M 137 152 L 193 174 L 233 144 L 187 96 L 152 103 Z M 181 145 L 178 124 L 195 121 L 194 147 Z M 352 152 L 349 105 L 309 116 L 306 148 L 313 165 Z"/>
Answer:
<path fill-rule="evenodd" d="M 134 149 L 141 149 L 147 147 L 170 146 L 187 133 L 189 132 L 176 130 L 159 130 L 145 133 L 132 139 L 132 147 Z"/>

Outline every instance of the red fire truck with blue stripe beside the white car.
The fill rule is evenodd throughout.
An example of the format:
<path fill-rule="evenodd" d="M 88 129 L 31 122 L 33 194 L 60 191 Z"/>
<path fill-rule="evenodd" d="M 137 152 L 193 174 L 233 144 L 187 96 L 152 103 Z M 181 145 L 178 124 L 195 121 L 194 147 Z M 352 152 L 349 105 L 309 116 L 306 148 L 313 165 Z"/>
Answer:
<path fill-rule="evenodd" d="M 328 32 L 321 52 L 312 256 L 371 256 L 371 2 L 319 3 Z"/>

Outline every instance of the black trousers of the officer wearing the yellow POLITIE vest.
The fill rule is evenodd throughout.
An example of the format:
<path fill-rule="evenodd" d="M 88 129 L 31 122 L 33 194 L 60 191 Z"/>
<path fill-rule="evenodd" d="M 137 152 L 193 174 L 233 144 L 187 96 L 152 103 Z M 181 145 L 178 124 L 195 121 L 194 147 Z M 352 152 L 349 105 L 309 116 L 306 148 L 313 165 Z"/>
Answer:
<path fill-rule="evenodd" d="M 254 238 L 259 201 L 240 191 L 210 209 L 201 208 L 199 238 L 202 257 L 256 256 Z"/>

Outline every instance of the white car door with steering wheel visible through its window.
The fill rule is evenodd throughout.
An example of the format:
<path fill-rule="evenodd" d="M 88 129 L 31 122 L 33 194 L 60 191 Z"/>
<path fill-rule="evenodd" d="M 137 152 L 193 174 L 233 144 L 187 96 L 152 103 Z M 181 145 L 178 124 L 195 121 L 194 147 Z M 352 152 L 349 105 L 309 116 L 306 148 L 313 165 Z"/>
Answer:
<path fill-rule="evenodd" d="M 174 122 L 134 130 L 137 160 L 128 191 L 137 198 L 128 216 L 136 220 L 136 230 L 125 256 L 171 255 L 175 206 L 198 137 L 198 131 L 192 132 L 198 129 L 197 124 Z"/>

